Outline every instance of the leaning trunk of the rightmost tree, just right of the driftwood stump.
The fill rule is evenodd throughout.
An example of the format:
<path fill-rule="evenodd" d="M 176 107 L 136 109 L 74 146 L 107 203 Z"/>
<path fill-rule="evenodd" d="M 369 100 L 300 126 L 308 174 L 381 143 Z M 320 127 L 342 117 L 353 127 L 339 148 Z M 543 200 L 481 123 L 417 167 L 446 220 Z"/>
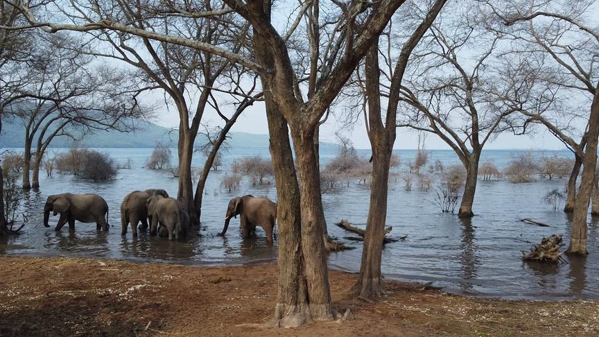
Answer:
<path fill-rule="evenodd" d="M 574 214 L 572 218 L 572 229 L 570 246 L 567 252 L 570 254 L 587 254 L 587 212 L 593 191 L 595 180 L 595 168 L 597 164 L 597 143 L 599 136 L 599 89 L 596 89 L 591 105 L 591 116 L 589 117 L 589 137 L 587 147 L 584 151 L 582 164 L 582 178 L 580 188 L 576 193 L 574 202 Z"/>

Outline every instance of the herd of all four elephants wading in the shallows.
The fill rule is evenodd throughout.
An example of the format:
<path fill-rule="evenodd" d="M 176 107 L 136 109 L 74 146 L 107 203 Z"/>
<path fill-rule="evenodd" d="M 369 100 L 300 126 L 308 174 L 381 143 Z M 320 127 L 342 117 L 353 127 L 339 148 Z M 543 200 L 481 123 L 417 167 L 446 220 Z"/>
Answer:
<path fill-rule="evenodd" d="M 97 194 L 62 193 L 48 196 L 44 206 L 44 226 L 48 224 L 50 212 L 60 214 L 56 231 L 65 223 L 69 230 L 75 230 L 75 221 L 96 223 L 96 230 L 108 230 L 108 204 Z M 241 196 L 229 201 L 225 214 L 225 227 L 218 236 L 225 236 L 229 221 L 240 216 L 240 227 L 243 239 L 255 234 L 256 227 L 261 226 L 266 232 L 268 243 L 272 243 L 277 219 L 277 204 L 267 198 Z M 170 198 L 164 189 L 146 189 L 132 191 L 121 202 L 121 234 L 127 234 L 131 226 L 133 236 L 137 230 L 145 231 L 150 223 L 150 235 L 168 236 L 169 240 L 179 239 L 189 232 L 189 214 L 183 209 L 181 202 Z M 141 223 L 141 225 L 139 225 Z M 139 227 L 138 227 L 139 225 Z"/>

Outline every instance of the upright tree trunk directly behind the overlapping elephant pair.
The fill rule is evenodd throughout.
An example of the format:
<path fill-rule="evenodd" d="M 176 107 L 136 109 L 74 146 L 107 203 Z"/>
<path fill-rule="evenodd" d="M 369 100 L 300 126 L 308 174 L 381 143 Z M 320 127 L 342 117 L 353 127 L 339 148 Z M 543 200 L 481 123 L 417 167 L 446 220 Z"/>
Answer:
<path fill-rule="evenodd" d="M 189 214 L 189 221 L 192 224 L 198 224 L 196 209 L 193 202 L 193 184 L 191 182 L 191 159 L 193 159 L 193 143 L 196 135 L 189 132 L 186 128 L 179 130 L 179 144 L 177 145 L 179 155 L 179 189 L 177 190 L 177 200 L 179 200 L 183 209 Z"/>

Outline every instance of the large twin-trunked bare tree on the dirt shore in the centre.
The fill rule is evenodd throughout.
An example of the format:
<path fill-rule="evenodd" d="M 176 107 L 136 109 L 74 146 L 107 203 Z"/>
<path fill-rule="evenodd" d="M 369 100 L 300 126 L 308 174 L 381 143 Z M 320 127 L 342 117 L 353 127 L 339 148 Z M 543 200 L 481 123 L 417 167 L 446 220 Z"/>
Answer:
<path fill-rule="evenodd" d="M 218 20 L 223 21 L 223 12 L 236 12 L 253 28 L 253 59 L 242 55 L 239 49 L 227 49 L 230 44 L 219 45 L 218 41 L 186 36 L 182 31 L 177 31 L 176 35 L 173 35 L 171 31 L 164 31 L 158 26 L 153 26 L 151 30 L 146 29 L 146 22 L 139 15 L 146 14 L 148 8 L 153 8 L 152 5 L 143 6 L 139 10 L 129 10 L 128 8 L 118 11 L 106 10 L 95 15 L 92 20 L 86 19 L 85 22 L 76 24 L 41 23 L 29 14 L 31 6 L 19 6 L 19 8 L 28 15 L 30 25 L 39 26 L 49 32 L 69 29 L 133 34 L 148 40 L 148 42 L 149 39 L 159 40 L 162 43 L 194 48 L 201 51 L 202 55 L 218 55 L 229 62 L 248 67 L 261 76 L 270 137 L 277 139 L 277 141 L 272 141 L 270 146 L 272 162 L 275 167 L 277 220 L 279 222 L 279 297 L 275 309 L 275 320 L 278 326 L 297 326 L 308 320 L 331 320 L 335 317 L 324 254 L 323 238 L 326 223 L 322 210 L 320 174 L 314 146 L 315 130 L 358 62 L 367 53 L 370 46 L 376 42 L 376 38 L 403 2 L 404 0 L 384 0 L 374 3 L 354 1 L 349 4 L 333 2 L 331 6 L 333 6 L 334 14 L 326 20 L 333 23 L 324 24 L 330 33 L 327 35 L 328 43 L 314 39 L 311 44 L 311 48 L 320 49 L 324 45 L 325 49 L 330 46 L 330 50 L 322 55 L 322 58 L 315 58 L 313 61 L 315 64 L 322 61 L 323 64 L 321 67 L 311 68 L 314 76 L 311 76 L 312 79 L 308 81 L 309 95 L 307 95 L 307 99 L 302 95 L 299 86 L 299 80 L 302 78 L 297 76 L 298 73 L 290 59 L 290 51 L 293 49 L 287 43 L 288 36 L 293 35 L 297 25 L 293 25 L 288 33 L 279 34 L 270 23 L 272 3 L 268 0 L 247 3 L 225 0 L 228 7 L 222 6 L 214 10 L 211 5 L 206 6 L 207 3 L 202 3 L 204 6 L 192 8 L 186 6 L 186 3 L 182 3 L 182 6 L 178 7 L 178 3 L 169 2 L 168 5 L 171 7 L 164 10 L 175 11 L 176 15 L 168 15 L 168 19 L 173 20 L 188 17 L 200 20 L 218 15 Z M 198 5 L 200 4 L 198 3 Z M 46 5 L 44 4 L 44 6 Z M 71 6 L 73 5 L 68 5 L 69 8 Z M 305 4 L 306 8 L 309 6 L 313 6 L 313 10 L 317 7 L 320 8 L 318 1 Z M 89 8 L 100 7 L 92 4 Z M 62 12 L 67 11 L 62 10 Z M 87 13 L 89 10 L 82 9 L 81 12 Z M 113 17 L 112 13 L 125 13 L 130 17 Z M 305 13 L 305 10 L 299 13 L 299 21 Z M 164 21 L 162 20 L 164 16 L 156 15 L 155 12 L 151 13 L 151 17 L 160 17 L 161 24 Z M 315 22 L 320 27 L 320 19 Z M 210 22 L 202 25 L 202 28 L 209 30 L 214 27 L 214 23 Z M 222 35 L 218 35 L 218 37 L 220 36 Z M 317 54 L 311 53 L 311 55 Z M 190 60 L 190 58 L 186 59 Z M 205 65 L 207 65 L 206 63 Z M 210 83 L 209 80 L 214 78 L 214 74 L 218 74 L 218 70 L 204 71 L 204 74 L 206 80 L 203 87 L 211 87 L 213 83 Z M 167 76 L 167 78 L 172 77 Z M 181 83 L 181 81 L 177 82 Z M 313 94 L 311 94 L 310 88 L 313 88 Z M 166 90 L 166 87 L 164 89 Z M 180 92 L 180 87 L 171 88 L 171 91 L 174 89 Z M 203 90 L 202 95 L 208 91 L 208 89 Z M 189 128 L 188 121 L 189 116 L 184 114 L 180 126 L 180 154 L 192 151 L 193 137 L 195 137 L 199 126 L 198 114 L 193 117 L 191 123 L 195 130 Z M 297 175 L 288 140 L 287 125 L 290 135 L 293 137 L 297 158 Z M 183 155 L 180 159 L 182 170 L 189 167 L 187 163 L 191 162 L 189 157 L 189 155 Z M 184 208 L 192 211 L 190 216 L 195 218 L 193 205 L 188 203 L 190 198 L 187 194 L 191 192 L 191 188 L 182 186 L 182 184 L 186 185 L 187 181 L 185 175 L 182 174 L 180 196 L 178 197 L 186 205 Z"/>

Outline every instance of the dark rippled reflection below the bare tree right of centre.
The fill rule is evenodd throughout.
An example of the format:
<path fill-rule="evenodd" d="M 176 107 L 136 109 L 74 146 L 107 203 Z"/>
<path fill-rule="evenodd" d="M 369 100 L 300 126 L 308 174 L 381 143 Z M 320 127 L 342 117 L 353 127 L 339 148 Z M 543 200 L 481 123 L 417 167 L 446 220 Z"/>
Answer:
<path fill-rule="evenodd" d="M 472 218 L 460 218 L 462 227 L 460 245 L 460 264 L 462 266 L 462 279 L 471 280 L 478 276 L 478 245 L 476 245 L 476 236 L 474 235 L 474 226 Z M 460 282 L 460 287 L 464 290 L 471 291 L 474 285 L 471 282 Z"/>

